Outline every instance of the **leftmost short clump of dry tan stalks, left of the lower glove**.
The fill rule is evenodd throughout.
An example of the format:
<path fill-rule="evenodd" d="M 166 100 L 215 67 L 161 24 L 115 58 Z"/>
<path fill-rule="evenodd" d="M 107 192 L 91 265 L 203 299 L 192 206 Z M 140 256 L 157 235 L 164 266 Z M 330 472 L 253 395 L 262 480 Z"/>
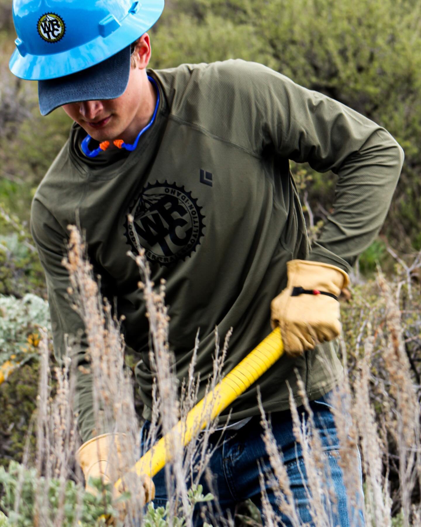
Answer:
<path fill-rule="evenodd" d="M 32 521 L 35 527 L 62 527 L 65 524 L 66 497 L 68 481 L 78 477 L 73 473 L 74 453 L 78 446 L 77 420 L 70 402 L 74 395 L 74 376 L 71 374 L 71 359 L 63 358 L 63 368 L 54 368 L 57 380 L 56 394 L 51 396 L 51 370 L 49 364 L 49 345 L 47 330 L 41 329 L 37 414 L 36 418 L 36 458 L 29 460 L 28 441 L 19 471 L 19 480 L 14 499 L 14 516 L 19 518 L 16 525 L 26 525 L 21 515 L 21 504 L 28 499 L 28 481 L 25 471 L 36 466 L 35 492 L 33 496 Z M 26 476 L 27 477 L 27 476 Z M 56 503 L 51 508 L 52 490 L 55 489 Z M 79 525 L 82 514 L 83 489 L 76 487 L 76 501 L 72 516 L 74 525 Z M 68 505 L 67 505 L 68 506 Z M 25 505 L 23 504 L 25 509 Z M 68 523 L 66 523 L 68 524 Z M 15 525 L 15 523 L 11 523 Z"/>

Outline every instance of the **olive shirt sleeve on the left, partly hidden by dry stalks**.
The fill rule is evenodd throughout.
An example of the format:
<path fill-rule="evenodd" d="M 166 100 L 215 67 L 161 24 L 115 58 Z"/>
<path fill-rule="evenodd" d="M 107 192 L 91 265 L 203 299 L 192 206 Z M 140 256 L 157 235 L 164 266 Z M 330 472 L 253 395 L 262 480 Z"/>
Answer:
<path fill-rule="evenodd" d="M 46 275 L 55 358 L 62 366 L 62 358 L 66 353 L 65 339 L 67 339 L 72 362 L 76 362 L 76 394 L 73 409 L 78 414 L 78 429 L 85 442 L 101 431 L 95 431 L 93 378 L 89 373 L 86 356 L 88 346 L 85 327 L 81 317 L 72 308 L 73 301 L 68 294 L 69 276 L 62 264 L 68 236 L 36 197 L 31 210 L 31 231 Z"/>

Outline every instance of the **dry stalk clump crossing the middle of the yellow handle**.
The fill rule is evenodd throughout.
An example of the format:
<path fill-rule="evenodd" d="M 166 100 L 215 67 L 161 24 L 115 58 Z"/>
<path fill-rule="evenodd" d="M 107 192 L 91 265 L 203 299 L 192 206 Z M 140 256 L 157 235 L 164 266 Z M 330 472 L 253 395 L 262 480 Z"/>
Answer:
<path fill-rule="evenodd" d="M 128 218 L 131 223 L 133 232 L 133 218 Z M 174 356 L 168 345 L 168 323 L 169 317 L 165 305 L 165 281 L 159 285 L 158 291 L 155 290 L 155 284 L 151 280 L 151 270 L 145 258 L 145 251 L 137 241 L 138 255 L 134 256 L 129 252 L 128 255 L 135 259 L 141 272 L 142 281 L 138 286 L 143 291 L 146 304 L 147 317 L 149 321 L 149 333 L 151 335 L 150 360 L 151 367 L 156 374 L 156 392 L 154 395 L 153 423 L 149 430 L 148 443 L 153 444 L 156 436 L 157 409 L 159 408 L 159 421 L 161 424 L 162 434 L 168 437 L 166 448 L 171 452 L 172 461 L 165 466 L 167 496 L 169 500 L 170 518 L 169 523 L 174 521 L 177 502 L 180 499 L 183 504 L 184 514 L 189 524 L 192 521 L 193 511 L 189 508 L 187 502 L 187 485 L 197 484 L 202 477 L 209 459 L 213 453 L 209 448 L 209 436 L 216 430 L 216 419 L 211 419 L 211 406 L 204 407 L 204 411 L 197 423 L 199 428 L 206 423 L 203 432 L 196 434 L 187 447 L 183 448 L 183 436 L 181 437 L 173 431 L 174 425 L 178 418 L 185 422 L 188 412 L 197 403 L 200 377 L 195 376 L 194 367 L 196 363 L 197 350 L 199 346 L 198 333 L 195 339 L 195 347 L 188 370 L 187 384 L 181 386 L 181 398 L 178 396 L 178 382 L 174 371 Z M 222 369 L 225 356 L 228 349 L 228 341 L 232 331 L 229 331 L 225 337 L 222 352 L 219 347 L 219 336 L 215 330 L 215 357 L 213 360 L 213 375 L 206 387 L 205 396 L 212 390 L 222 378 Z M 155 423 L 154 423 L 155 421 Z M 214 448 L 216 448 L 216 445 Z M 189 485 L 190 486 L 190 485 Z"/>

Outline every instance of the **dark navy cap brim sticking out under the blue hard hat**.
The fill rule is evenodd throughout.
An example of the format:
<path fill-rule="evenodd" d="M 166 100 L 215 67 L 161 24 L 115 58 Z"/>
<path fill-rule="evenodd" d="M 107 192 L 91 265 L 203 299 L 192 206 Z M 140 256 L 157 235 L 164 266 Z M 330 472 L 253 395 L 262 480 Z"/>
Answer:
<path fill-rule="evenodd" d="M 39 110 L 47 115 L 63 104 L 116 99 L 127 87 L 130 46 L 86 70 L 58 79 L 38 81 Z"/>

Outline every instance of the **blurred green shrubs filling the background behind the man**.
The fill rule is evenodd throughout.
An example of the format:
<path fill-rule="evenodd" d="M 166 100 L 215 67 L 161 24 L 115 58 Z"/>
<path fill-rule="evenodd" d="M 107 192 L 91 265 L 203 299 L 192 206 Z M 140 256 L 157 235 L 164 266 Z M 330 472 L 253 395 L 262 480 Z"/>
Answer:
<path fill-rule="evenodd" d="M 357 288 L 357 298 L 343 317 L 347 344 L 355 346 L 363 309 L 370 313 L 377 301 L 373 284 L 364 289 L 364 275 L 373 274 L 380 263 L 390 279 L 397 280 L 396 258 L 388 249 L 402 258 L 401 264 L 414 262 L 413 255 L 421 250 L 421 2 L 167 0 L 164 14 L 149 33 L 153 69 L 227 58 L 263 63 L 363 113 L 404 148 L 405 164 L 392 207 L 380 236 L 359 259 L 363 276 L 357 281 L 362 289 Z M 20 81 L 9 72 L 14 38 L 12 0 L 0 0 L 0 295 L 23 299 L 35 293 L 45 298 L 42 270 L 28 233 L 29 210 L 37 185 L 66 141 L 71 121 L 62 110 L 43 118 L 36 82 Z M 316 233 L 332 207 L 336 176 L 316 173 L 308 165 L 293 165 L 292 170 L 309 229 Z M 413 267 L 410 277 L 405 267 L 399 269 L 399 276 L 416 282 L 415 297 L 406 306 L 411 317 L 421 281 L 419 265 Z M 7 314 L 0 310 L 0 320 L 2 316 Z M 380 322 L 382 316 L 378 315 Z M 418 385 L 419 310 L 414 317 L 405 320 L 405 328 Z M 16 331 L 25 341 L 36 332 L 36 324 L 28 319 Z M 10 335 L 3 338 L 10 344 Z M 32 347 L 35 344 L 33 340 Z M 31 377 L 28 364 L 0 387 L 0 464 L 21 459 L 22 434 L 32 412 L 21 406 L 22 414 L 16 415 L 14 409 L 25 397 L 35 399 L 37 366 Z"/>

